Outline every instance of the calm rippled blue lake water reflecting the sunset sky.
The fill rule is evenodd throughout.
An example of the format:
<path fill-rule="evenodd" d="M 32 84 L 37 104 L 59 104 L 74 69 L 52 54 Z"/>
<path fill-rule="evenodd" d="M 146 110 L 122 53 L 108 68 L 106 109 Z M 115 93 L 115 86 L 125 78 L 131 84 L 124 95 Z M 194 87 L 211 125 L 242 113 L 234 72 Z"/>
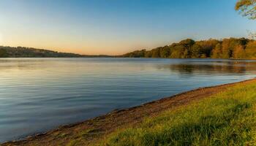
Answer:
<path fill-rule="evenodd" d="M 0 142 L 191 89 L 256 77 L 256 61 L 0 59 Z"/>

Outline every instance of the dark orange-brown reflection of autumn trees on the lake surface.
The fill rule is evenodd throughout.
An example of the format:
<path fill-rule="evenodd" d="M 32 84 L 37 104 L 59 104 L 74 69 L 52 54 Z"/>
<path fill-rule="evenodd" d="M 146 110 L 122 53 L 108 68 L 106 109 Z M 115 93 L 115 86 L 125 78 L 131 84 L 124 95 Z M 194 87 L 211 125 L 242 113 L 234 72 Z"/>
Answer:
<path fill-rule="evenodd" d="M 171 64 L 167 67 L 171 72 L 189 75 L 245 74 L 246 72 L 256 72 L 256 62 L 192 62 L 188 64 Z"/>

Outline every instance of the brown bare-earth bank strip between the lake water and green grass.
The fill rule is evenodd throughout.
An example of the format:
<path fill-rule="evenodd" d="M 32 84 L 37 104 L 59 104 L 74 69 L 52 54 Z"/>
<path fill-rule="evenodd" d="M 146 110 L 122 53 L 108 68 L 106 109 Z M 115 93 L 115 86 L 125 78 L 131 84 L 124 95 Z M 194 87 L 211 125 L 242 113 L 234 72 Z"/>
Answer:
<path fill-rule="evenodd" d="M 133 126 L 140 123 L 143 118 L 155 116 L 165 110 L 175 109 L 181 105 L 186 105 L 192 101 L 207 98 L 208 96 L 227 90 L 227 88 L 235 85 L 246 85 L 248 83 L 256 83 L 256 78 L 244 80 L 241 82 L 233 82 L 224 85 L 216 85 L 205 88 L 197 88 L 192 91 L 178 93 L 174 96 L 151 101 L 141 104 L 138 107 L 131 107 L 124 110 L 114 110 L 106 115 L 102 115 L 79 123 L 59 126 L 51 131 L 42 134 L 36 134 L 18 141 L 5 142 L 1 145 L 57 145 L 59 142 L 74 139 L 75 135 L 80 131 L 88 131 L 86 135 L 86 145 L 97 142 L 118 128 Z M 65 137 L 64 137 L 65 136 Z M 66 137 L 67 136 L 67 137 Z M 57 143 L 56 143 L 57 142 Z"/>

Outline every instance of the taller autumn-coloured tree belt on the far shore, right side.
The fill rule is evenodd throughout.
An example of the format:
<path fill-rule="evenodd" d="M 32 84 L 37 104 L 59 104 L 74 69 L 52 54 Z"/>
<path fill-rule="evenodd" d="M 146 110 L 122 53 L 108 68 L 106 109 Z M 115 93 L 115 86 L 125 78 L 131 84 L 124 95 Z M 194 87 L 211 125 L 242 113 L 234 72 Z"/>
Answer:
<path fill-rule="evenodd" d="M 152 50 L 135 50 L 120 57 L 127 58 L 248 58 L 256 59 L 256 41 L 245 38 L 185 39 Z"/>

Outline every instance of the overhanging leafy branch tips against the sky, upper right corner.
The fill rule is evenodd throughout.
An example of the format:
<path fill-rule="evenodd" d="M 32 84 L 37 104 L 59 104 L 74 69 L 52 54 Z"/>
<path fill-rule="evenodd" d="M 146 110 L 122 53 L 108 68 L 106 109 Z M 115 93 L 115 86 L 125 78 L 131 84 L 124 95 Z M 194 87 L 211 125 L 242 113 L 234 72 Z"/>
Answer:
<path fill-rule="evenodd" d="M 249 19 L 256 19 L 256 0 L 238 0 L 235 9 Z"/>

